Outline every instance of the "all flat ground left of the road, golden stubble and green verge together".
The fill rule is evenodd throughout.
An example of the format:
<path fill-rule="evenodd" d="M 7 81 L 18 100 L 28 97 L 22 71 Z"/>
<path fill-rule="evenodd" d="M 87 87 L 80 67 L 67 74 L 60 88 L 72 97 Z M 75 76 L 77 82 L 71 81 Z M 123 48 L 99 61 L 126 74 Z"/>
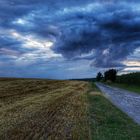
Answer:
<path fill-rule="evenodd" d="M 139 140 L 89 82 L 0 78 L 0 140 Z"/>

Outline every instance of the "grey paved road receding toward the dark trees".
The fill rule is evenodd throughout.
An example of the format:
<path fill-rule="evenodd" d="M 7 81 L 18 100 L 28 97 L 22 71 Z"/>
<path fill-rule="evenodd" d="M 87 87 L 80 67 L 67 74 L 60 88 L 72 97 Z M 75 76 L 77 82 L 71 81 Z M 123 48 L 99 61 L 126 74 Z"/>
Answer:
<path fill-rule="evenodd" d="M 96 83 L 96 85 L 114 105 L 130 116 L 136 123 L 140 124 L 139 94 L 101 83 Z"/>

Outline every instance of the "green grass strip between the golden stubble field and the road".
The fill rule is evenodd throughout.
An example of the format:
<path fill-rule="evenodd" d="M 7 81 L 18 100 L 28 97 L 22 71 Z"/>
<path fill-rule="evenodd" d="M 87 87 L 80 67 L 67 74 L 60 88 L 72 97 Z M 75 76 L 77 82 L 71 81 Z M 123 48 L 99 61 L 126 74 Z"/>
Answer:
<path fill-rule="evenodd" d="M 140 126 L 112 105 L 93 87 L 89 93 L 89 120 L 92 140 L 139 140 Z"/>

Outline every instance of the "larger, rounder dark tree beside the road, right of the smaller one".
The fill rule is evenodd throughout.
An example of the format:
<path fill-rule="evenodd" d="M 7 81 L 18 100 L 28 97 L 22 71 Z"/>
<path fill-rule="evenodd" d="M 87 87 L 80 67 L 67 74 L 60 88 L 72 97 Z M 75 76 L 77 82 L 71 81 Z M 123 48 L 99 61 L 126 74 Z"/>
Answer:
<path fill-rule="evenodd" d="M 117 76 L 117 70 L 115 69 L 110 69 L 104 73 L 105 81 L 110 80 L 112 82 L 115 82 L 116 76 Z"/>

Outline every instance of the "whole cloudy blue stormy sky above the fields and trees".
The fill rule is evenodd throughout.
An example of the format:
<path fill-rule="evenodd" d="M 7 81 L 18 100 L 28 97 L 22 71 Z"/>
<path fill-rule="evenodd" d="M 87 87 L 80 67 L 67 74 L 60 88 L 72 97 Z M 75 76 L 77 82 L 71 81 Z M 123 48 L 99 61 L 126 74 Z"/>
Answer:
<path fill-rule="evenodd" d="M 140 71 L 139 0 L 0 0 L 0 77 Z"/>

